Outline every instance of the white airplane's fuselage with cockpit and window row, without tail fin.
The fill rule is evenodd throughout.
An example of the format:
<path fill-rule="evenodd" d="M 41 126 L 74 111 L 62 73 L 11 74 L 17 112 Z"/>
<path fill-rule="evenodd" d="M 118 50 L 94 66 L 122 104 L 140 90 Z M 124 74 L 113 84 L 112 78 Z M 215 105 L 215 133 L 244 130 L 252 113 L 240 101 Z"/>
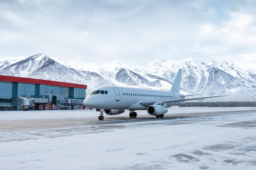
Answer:
<path fill-rule="evenodd" d="M 85 98 L 83 104 L 96 109 L 146 110 L 150 104 L 141 102 L 182 99 L 182 94 L 153 89 L 139 89 L 119 86 L 103 86 L 95 89 Z M 175 105 L 177 102 L 173 102 Z M 168 107 L 170 107 L 169 105 Z"/>

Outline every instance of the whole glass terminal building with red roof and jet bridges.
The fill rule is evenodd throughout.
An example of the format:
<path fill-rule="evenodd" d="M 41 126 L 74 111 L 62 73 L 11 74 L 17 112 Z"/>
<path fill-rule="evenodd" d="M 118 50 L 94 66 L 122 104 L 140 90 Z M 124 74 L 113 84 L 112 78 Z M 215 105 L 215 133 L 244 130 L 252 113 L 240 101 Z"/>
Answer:
<path fill-rule="evenodd" d="M 87 85 L 0 75 L 0 110 L 84 109 Z"/>

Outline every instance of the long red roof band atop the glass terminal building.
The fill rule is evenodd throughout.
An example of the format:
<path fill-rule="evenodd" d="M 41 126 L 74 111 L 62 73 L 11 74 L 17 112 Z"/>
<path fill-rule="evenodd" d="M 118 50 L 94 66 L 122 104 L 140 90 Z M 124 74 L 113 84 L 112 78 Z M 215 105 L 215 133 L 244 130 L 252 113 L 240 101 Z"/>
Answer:
<path fill-rule="evenodd" d="M 31 83 L 31 84 L 41 84 L 41 85 L 53 85 L 60 87 L 74 87 L 87 89 L 87 85 L 79 85 L 74 83 L 65 83 L 59 81 L 50 81 L 50 80 L 40 80 L 35 78 L 24 78 L 24 77 L 14 77 L 14 76 L 3 76 L 0 75 L 0 81 L 10 81 L 10 82 L 18 82 L 18 83 Z"/>

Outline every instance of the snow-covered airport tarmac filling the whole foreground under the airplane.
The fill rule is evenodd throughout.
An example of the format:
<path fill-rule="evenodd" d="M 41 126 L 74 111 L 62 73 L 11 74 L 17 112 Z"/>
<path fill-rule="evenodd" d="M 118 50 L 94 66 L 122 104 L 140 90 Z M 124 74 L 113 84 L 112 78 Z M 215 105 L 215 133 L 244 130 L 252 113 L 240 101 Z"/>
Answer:
<path fill-rule="evenodd" d="M 256 107 L 0 112 L 0 169 L 256 169 Z"/>

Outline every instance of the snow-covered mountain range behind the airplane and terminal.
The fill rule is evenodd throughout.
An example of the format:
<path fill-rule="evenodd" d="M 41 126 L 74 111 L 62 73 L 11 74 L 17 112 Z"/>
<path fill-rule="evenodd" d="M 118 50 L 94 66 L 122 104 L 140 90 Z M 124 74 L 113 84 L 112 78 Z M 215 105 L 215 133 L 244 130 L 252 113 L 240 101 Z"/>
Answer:
<path fill-rule="evenodd" d="M 193 58 L 154 60 L 130 67 L 123 61 L 64 62 L 43 53 L 31 57 L 0 58 L 0 74 L 88 85 L 87 93 L 103 85 L 169 90 L 182 68 L 184 94 L 229 95 L 222 101 L 256 101 L 256 70 L 242 70 L 221 58 L 202 63 Z"/>

